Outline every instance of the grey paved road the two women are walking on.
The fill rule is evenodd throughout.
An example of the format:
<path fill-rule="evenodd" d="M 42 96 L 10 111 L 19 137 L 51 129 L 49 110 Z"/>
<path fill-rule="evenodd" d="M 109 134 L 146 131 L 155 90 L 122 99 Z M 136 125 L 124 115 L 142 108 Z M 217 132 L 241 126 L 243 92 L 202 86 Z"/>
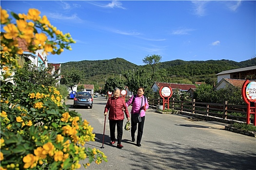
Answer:
<path fill-rule="evenodd" d="M 90 122 L 96 134 L 96 141 L 88 142 L 86 148 L 102 146 L 106 102 L 98 97 L 92 109 L 76 109 L 82 119 Z M 73 109 L 72 103 L 72 100 L 66 102 L 70 109 Z M 128 109 L 130 112 L 131 106 Z M 224 125 L 148 109 L 142 146 L 137 147 L 136 142 L 131 141 L 130 132 L 123 131 L 124 148 L 118 149 L 108 144 L 107 120 L 105 148 L 100 150 L 108 156 L 108 162 L 92 163 L 87 170 L 256 170 L 256 137 L 225 131 Z M 81 166 L 80 170 L 84 168 Z"/>

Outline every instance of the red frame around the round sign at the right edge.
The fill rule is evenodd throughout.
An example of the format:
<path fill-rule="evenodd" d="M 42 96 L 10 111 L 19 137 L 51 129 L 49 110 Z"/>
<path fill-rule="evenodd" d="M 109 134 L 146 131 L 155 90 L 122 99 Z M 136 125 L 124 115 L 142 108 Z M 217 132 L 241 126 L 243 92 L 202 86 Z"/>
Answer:
<path fill-rule="evenodd" d="M 247 98 L 246 88 L 247 88 L 248 84 L 249 84 L 249 80 L 246 80 L 243 83 L 242 90 L 241 90 L 242 98 L 243 98 L 244 102 L 246 102 L 246 104 L 247 104 L 246 124 L 250 124 L 250 115 L 253 114 L 254 115 L 254 125 L 256 126 L 256 102 L 254 102 L 254 104 L 253 104 L 254 106 L 251 106 L 251 103 L 253 103 L 253 102 L 250 102 L 250 100 Z"/>

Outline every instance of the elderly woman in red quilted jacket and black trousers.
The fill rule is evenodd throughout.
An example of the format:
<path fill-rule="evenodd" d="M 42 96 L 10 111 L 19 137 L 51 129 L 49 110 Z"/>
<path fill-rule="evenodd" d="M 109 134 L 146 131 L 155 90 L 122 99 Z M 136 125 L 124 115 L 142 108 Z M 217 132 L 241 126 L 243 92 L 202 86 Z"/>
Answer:
<path fill-rule="evenodd" d="M 107 112 L 109 111 L 108 119 L 109 119 L 111 145 L 116 143 L 115 131 L 117 126 L 117 130 L 118 130 L 117 147 L 119 149 L 123 148 L 123 145 L 121 145 L 121 140 L 123 135 L 123 119 L 124 119 L 123 108 L 125 108 L 124 110 L 125 116 L 129 121 L 130 120 L 129 112 L 125 102 L 123 101 L 122 98 L 120 98 L 120 89 L 115 88 L 114 96 L 108 99 L 108 102 L 105 106 L 104 116 L 107 116 Z"/>

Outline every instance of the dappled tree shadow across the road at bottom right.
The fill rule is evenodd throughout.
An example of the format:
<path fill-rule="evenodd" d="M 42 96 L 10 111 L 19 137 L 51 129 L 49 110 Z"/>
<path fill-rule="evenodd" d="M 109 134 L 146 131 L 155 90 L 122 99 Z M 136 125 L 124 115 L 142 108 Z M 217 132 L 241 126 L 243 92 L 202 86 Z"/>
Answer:
<path fill-rule="evenodd" d="M 182 143 L 147 142 L 157 147 L 148 148 L 150 152 L 134 151 L 139 162 L 134 161 L 132 166 L 138 170 L 161 170 L 161 167 L 169 167 L 170 170 L 255 170 L 256 153 L 250 151 L 237 154 L 224 148 L 215 151 Z"/>

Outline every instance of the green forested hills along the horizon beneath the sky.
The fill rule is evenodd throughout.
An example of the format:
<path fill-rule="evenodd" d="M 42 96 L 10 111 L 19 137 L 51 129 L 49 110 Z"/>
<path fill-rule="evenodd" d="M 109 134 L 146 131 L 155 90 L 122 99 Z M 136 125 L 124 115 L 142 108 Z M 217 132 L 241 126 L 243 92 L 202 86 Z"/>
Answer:
<path fill-rule="evenodd" d="M 188 80 L 188 82 L 206 82 L 213 83 L 217 80 L 216 74 L 229 69 L 256 66 L 256 57 L 250 60 L 235 62 L 232 60 L 208 60 L 208 61 L 183 61 L 173 60 L 161 62 L 158 64 L 158 71 L 164 71 L 164 76 L 158 76 L 162 79 L 156 81 L 180 83 L 177 80 Z M 62 70 L 76 67 L 84 73 L 83 84 L 104 84 L 105 79 L 110 76 L 119 77 L 128 70 L 136 70 L 145 66 L 138 66 L 122 58 L 111 60 L 83 60 L 79 62 L 67 62 L 61 64 Z M 162 71 L 163 72 L 163 71 Z M 123 77 L 121 77 L 123 78 Z M 163 80 L 164 79 L 164 80 Z M 189 84 L 189 83 L 187 83 Z"/>

